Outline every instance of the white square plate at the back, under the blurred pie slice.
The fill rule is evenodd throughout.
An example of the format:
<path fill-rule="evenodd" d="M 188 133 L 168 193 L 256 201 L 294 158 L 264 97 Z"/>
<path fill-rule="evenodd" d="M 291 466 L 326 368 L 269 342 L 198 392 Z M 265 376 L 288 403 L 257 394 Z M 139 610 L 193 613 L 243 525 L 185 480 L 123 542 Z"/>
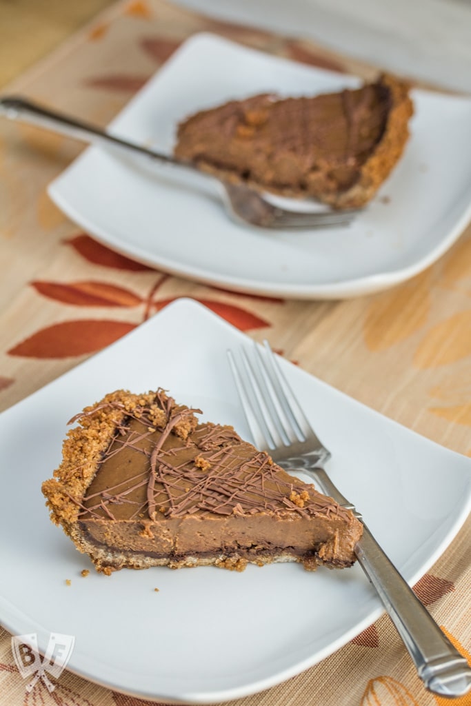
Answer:
<path fill-rule="evenodd" d="M 177 124 L 200 109 L 258 92 L 315 95 L 358 83 L 196 35 L 110 130 L 171 153 Z M 423 90 L 412 97 L 415 116 L 405 153 L 373 203 L 347 228 L 273 232 L 237 225 L 201 177 L 190 183 L 181 170 L 132 164 L 100 148 L 85 150 L 49 193 L 102 243 L 193 280 L 298 299 L 375 292 L 431 265 L 471 217 L 471 100 Z"/>

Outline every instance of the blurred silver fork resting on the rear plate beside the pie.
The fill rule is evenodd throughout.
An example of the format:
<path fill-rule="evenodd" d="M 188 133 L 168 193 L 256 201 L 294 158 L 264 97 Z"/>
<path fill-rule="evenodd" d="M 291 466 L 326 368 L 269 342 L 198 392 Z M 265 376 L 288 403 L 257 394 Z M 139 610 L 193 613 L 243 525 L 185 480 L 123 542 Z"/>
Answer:
<path fill-rule="evenodd" d="M 173 164 L 176 167 L 198 172 L 207 179 L 212 179 L 220 184 L 222 188 L 222 203 L 229 216 L 236 222 L 271 229 L 341 227 L 350 225 L 354 217 L 362 210 L 323 210 L 309 213 L 287 210 L 270 203 L 261 193 L 254 191 L 254 189 L 249 189 L 249 187 L 242 184 L 229 184 L 202 172 L 198 169 L 198 165 L 193 162 L 186 162 L 177 157 L 149 150 L 136 143 L 111 135 L 95 125 L 87 124 L 68 115 L 53 112 L 20 97 L 4 96 L 0 98 L 0 115 L 4 115 L 11 120 L 25 121 L 83 142 L 96 145 L 111 145 L 113 148 L 128 155 L 141 155 L 155 162 Z"/>

